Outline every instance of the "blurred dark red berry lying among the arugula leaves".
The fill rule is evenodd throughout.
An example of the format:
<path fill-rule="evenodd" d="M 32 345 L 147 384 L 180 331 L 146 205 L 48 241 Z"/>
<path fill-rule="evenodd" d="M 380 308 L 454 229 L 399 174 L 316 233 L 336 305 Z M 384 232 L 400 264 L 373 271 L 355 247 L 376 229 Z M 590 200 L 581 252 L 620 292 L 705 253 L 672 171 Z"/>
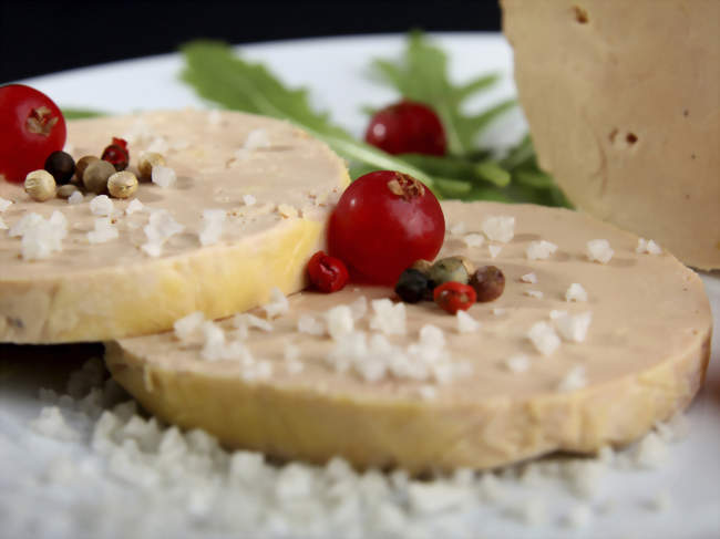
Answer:
<path fill-rule="evenodd" d="M 389 154 L 445 155 L 445 129 L 435 112 L 422 103 L 401 101 L 377 112 L 366 142 Z"/>

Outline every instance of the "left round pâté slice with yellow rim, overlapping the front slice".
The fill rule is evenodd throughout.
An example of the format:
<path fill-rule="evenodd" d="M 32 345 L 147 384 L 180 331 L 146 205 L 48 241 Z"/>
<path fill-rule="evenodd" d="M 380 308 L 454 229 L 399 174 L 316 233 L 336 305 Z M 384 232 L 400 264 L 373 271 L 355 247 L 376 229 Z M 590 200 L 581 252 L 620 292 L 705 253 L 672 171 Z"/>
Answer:
<path fill-rule="evenodd" d="M 132 198 L 38 203 L 0 183 L 0 342 L 155 333 L 302 288 L 349 183 L 325 144 L 276 120 L 184 110 L 70 122 L 68 148 L 100 156 L 112 137 L 135 174 L 145 152 L 165 157 Z"/>

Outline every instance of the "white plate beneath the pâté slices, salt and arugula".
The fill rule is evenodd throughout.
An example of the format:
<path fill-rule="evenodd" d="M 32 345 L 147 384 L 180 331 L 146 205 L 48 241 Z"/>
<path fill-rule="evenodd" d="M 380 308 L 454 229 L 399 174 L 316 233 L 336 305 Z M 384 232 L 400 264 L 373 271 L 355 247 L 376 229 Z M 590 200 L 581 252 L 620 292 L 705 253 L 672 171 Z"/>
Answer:
<path fill-rule="evenodd" d="M 451 73 L 466 79 L 486 71 L 500 71 L 504 80 L 492 93 L 472 106 L 512 95 L 512 52 L 498 34 L 441 34 L 439 42 L 452 58 Z M 361 134 L 367 118 L 361 105 L 382 105 L 397 99 L 391 91 L 367 79 L 369 60 L 398 54 L 402 38 L 398 35 L 312 39 L 294 42 L 247 45 L 247 58 L 260 60 L 291 85 L 311 90 L 313 103 L 328 110 L 338 123 Z M 203 106 L 193 91 L 178 81 L 182 59 L 163 55 L 74 70 L 22 81 L 48 93 L 61 106 L 96 108 L 126 113 L 150 108 Z M 524 131 L 520 113 L 510 114 L 504 123 L 488 133 L 493 144 L 507 145 Z M 711 298 L 714 332 L 720 334 L 720 276 L 702 276 Z M 661 293 L 659 291 L 658 293 Z M 469 537 L 667 537 L 701 539 L 720 536 L 720 361 L 719 346 L 712 349 L 712 361 L 704 388 L 688 417 L 690 436 L 672 446 L 668 462 L 656 470 L 614 470 L 605 479 L 604 504 L 615 500 L 613 510 L 594 511 L 589 527 L 573 530 L 551 519 L 545 525 L 527 527 L 508 520 L 502 511 L 477 507 Z M 38 367 L 39 363 L 32 363 Z M 43 364 L 47 365 L 47 364 Z M 56 384 L 66 376 L 69 366 L 58 365 L 50 373 L 32 372 L 22 364 L 12 364 L 14 372 L 3 375 L 0 363 L 0 537 L 6 536 L 3 522 L 32 521 L 31 529 L 16 530 L 13 537 L 80 537 L 85 522 L 83 510 L 101 510 L 94 493 L 83 491 L 81 478 L 70 483 L 61 494 L 43 481 L 49 464 L 60 453 L 74 459 L 90 457 L 86 445 L 60 444 L 42 438 L 28 427 L 42 403 L 38 391 Z M 7 381 L 11 380 L 12 383 Z M 106 479 L 110 485 L 115 479 Z M 73 488 L 76 485 L 76 488 Z M 532 490 L 532 486 L 523 487 Z M 654 512 L 647 508 L 657 493 L 671 495 L 669 509 Z M 19 494 L 16 494 L 19 493 Z M 577 500 L 562 495 L 534 493 L 557 498 L 560 509 L 570 509 Z M 18 496 L 20 498 L 18 498 Z M 95 505 L 93 505 L 95 504 Z M 592 507 L 597 509 L 596 504 Z M 610 507 L 610 506 L 607 506 Z M 23 509 L 20 509 L 23 508 Z M 93 509 L 93 510 L 94 510 Z M 11 514 L 3 515 L 2 511 Z M 16 512 L 23 510 L 37 518 L 24 520 Z M 54 520 L 48 521 L 45 512 Z M 567 511 L 565 511 L 567 512 Z M 25 515 L 25 516 L 27 516 Z M 59 515 L 63 519 L 58 521 Z M 13 520 L 14 519 L 14 520 Z M 469 525 L 470 526 L 470 525 Z M 188 536 L 191 535 L 188 527 Z M 123 537 L 115 530 L 113 537 Z M 297 537 L 301 537 L 300 532 Z M 99 537 L 95 535 L 95 537 Z M 287 536 L 284 536 L 287 537 Z"/>

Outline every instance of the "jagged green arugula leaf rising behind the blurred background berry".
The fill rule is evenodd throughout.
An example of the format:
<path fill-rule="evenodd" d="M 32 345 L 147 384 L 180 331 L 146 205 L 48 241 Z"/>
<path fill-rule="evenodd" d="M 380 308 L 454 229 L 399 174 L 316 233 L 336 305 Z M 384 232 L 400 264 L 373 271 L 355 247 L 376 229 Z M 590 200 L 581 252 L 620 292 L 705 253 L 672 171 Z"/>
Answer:
<path fill-rule="evenodd" d="M 442 120 L 448 148 L 453 155 L 475 149 L 482 131 L 516 105 L 515 100 L 507 100 L 479 114 L 463 113 L 464 102 L 495 84 L 498 75 L 483 74 L 464 84 L 453 84 L 448 74 L 448 55 L 421 32 L 410 33 L 399 61 L 374 60 L 371 75 L 398 90 L 404 99 L 431 106 Z"/>

